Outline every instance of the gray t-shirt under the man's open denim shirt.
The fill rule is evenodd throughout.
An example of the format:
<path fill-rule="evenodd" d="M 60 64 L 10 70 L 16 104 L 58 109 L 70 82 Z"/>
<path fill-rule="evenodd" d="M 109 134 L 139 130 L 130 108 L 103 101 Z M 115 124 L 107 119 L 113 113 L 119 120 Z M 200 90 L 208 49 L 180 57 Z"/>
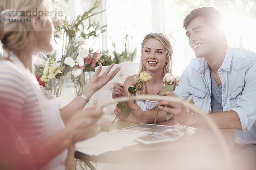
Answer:
<path fill-rule="evenodd" d="M 215 81 L 214 77 L 212 76 L 211 73 L 211 84 L 212 84 L 212 97 L 211 97 L 211 102 L 212 102 L 212 107 L 211 107 L 211 113 L 215 112 L 222 112 L 222 97 L 221 97 L 221 86 L 218 86 L 217 82 Z"/>

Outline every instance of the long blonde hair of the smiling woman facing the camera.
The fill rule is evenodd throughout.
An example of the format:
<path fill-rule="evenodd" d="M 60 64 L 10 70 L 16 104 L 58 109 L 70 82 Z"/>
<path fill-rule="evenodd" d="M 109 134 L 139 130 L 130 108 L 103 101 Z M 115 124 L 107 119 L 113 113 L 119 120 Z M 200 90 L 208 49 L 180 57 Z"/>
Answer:
<path fill-rule="evenodd" d="M 166 75 L 166 73 L 170 73 L 172 74 L 172 54 L 173 54 L 173 48 L 172 48 L 172 44 L 170 41 L 170 38 L 168 36 L 166 36 L 163 33 L 160 32 L 156 32 L 156 33 L 150 33 L 148 35 L 146 35 L 141 43 L 141 57 L 143 54 L 143 49 L 144 49 L 144 45 L 145 42 L 150 39 L 150 38 L 154 38 L 156 40 L 159 40 L 163 46 L 165 47 L 166 50 L 166 57 L 168 58 L 169 62 L 166 62 L 165 65 L 163 66 L 163 77 Z M 137 86 L 140 80 L 140 72 L 142 71 L 146 71 L 145 65 L 143 65 L 143 61 L 142 59 L 140 60 L 140 66 L 139 66 L 139 71 L 138 74 L 136 75 L 136 81 L 134 82 L 134 85 Z M 163 78 L 162 77 L 162 78 Z M 176 80 L 177 82 L 177 80 Z M 176 85 L 175 82 L 175 85 Z M 147 93 L 147 88 L 145 83 L 140 85 L 140 88 L 142 88 L 142 92 L 140 92 L 139 94 L 146 94 Z"/>

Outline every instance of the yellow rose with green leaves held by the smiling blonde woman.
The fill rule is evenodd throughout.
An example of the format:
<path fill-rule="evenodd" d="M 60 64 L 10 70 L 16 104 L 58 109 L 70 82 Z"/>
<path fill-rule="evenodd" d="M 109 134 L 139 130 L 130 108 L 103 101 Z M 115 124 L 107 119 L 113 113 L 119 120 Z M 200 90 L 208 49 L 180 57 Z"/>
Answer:
<path fill-rule="evenodd" d="M 149 79 L 151 79 L 150 74 L 148 74 L 146 71 L 140 72 L 140 80 L 137 87 L 131 86 L 128 88 L 128 92 L 130 93 L 130 97 L 136 92 L 136 91 L 142 91 L 139 86 L 145 82 L 147 82 Z M 118 108 L 122 108 L 122 116 L 124 119 L 126 119 L 130 114 L 130 108 L 126 105 L 126 102 L 118 102 L 117 103 Z M 113 120 L 112 124 L 115 122 L 117 116 Z"/>

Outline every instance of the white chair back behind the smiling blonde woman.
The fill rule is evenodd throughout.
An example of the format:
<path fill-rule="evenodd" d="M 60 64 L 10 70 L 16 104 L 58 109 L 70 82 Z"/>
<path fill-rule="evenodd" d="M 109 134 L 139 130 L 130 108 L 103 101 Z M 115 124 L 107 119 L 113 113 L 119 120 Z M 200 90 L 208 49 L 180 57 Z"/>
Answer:
<path fill-rule="evenodd" d="M 113 89 L 113 82 L 120 82 L 124 83 L 125 79 L 128 76 L 131 76 L 133 74 L 137 74 L 137 66 L 138 63 L 136 62 L 121 62 L 119 64 L 115 64 L 111 71 L 113 71 L 116 67 L 121 67 L 121 70 L 116 74 L 116 76 L 109 81 L 105 86 L 103 86 L 98 92 L 97 92 L 97 103 L 98 105 L 102 105 L 104 103 L 113 101 L 112 99 L 112 89 Z M 95 68 L 95 71 L 98 70 L 99 66 Z M 102 71 L 99 75 L 101 75 L 108 66 L 103 66 Z M 111 72 L 110 71 L 110 72 Z M 114 109 L 116 105 L 110 105 L 107 106 L 106 113 L 102 116 L 102 120 L 109 120 L 112 121 L 115 118 Z"/>

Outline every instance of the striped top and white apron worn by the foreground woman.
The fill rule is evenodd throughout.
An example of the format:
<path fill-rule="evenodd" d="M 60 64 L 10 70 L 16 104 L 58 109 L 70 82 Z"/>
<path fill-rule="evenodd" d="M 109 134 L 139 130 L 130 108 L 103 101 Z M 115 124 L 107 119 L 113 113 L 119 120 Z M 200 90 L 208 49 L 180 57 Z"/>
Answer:
<path fill-rule="evenodd" d="M 14 54 L 11 54 L 10 60 L 0 60 L 0 115 L 11 122 L 25 141 L 26 147 L 19 150 L 26 152 L 65 126 L 58 101 L 47 100 L 35 75 Z M 64 150 L 41 170 L 64 170 L 61 162 L 66 156 L 67 150 Z"/>

